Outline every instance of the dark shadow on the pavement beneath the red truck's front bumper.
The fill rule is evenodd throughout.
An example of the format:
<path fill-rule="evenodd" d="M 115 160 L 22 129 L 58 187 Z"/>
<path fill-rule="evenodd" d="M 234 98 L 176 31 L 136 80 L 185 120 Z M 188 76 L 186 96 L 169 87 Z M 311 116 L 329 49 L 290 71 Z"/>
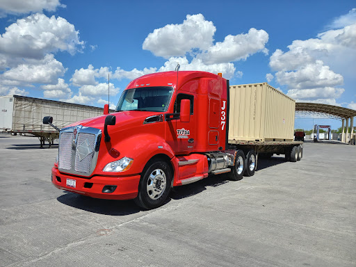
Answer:
<path fill-rule="evenodd" d="M 70 192 L 60 195 L 57 200 L 76 209 L 111 216 L 125 216 L 141 211 L 133 200 L 102 200 Z"/>

